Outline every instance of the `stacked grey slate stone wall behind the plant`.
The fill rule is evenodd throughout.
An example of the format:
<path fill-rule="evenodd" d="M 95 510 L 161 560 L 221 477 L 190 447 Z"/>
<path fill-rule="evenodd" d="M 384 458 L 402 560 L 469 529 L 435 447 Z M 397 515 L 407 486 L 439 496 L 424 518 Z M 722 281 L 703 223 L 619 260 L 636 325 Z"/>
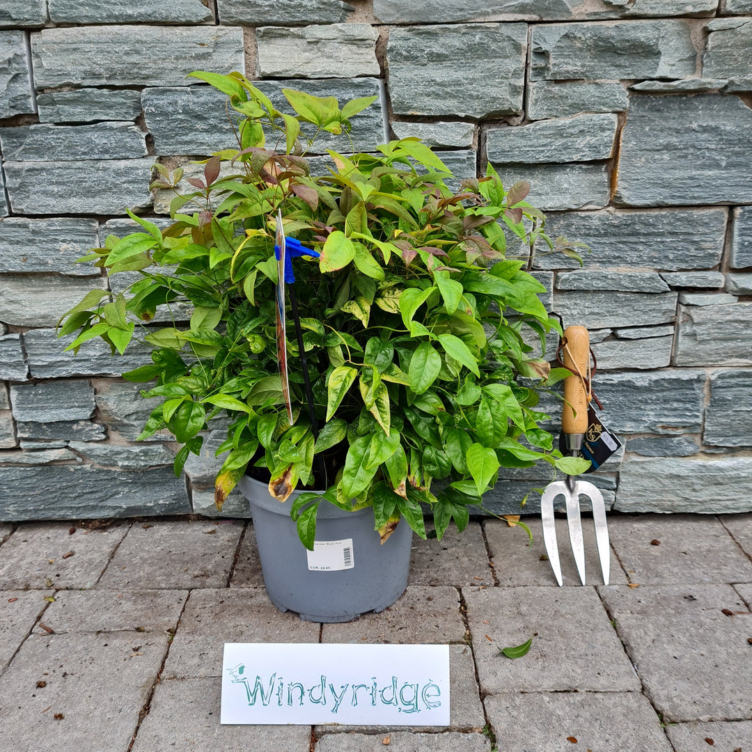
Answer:
<path fill-rule="evenodd" d="M 229 144 L 196 69 L 277 99 L 378 94 L 357 149 L 417 135 L 461 177 L 529 180 L 551 234 L 592 249 L 534 268 L 592 332 L 624 444 L 596 477 L 608 504 L 752 508 L 752 0 L 0 0 L 0 519 L 211 514 L 219 434 L 174 478 L 118 376 L 147 353 L 73 357 L 54 331 L 123 284 L 74 259 L 129 232 L 126 207 L 166 222 L 154 163 Z M 549 479 L 507 472 L 487 505 Z"/>

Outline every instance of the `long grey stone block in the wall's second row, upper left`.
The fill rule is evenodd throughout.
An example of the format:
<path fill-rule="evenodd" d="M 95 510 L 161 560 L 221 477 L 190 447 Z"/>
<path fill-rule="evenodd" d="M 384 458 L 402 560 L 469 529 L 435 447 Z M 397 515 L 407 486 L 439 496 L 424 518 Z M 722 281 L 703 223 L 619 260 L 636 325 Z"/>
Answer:
<path fill-rule="evenodd" d="M 243 31 L 227 26 L 44 29 L 32 55 L 38 88 L 189 86 L 192 71 L 244 70 Z"/>

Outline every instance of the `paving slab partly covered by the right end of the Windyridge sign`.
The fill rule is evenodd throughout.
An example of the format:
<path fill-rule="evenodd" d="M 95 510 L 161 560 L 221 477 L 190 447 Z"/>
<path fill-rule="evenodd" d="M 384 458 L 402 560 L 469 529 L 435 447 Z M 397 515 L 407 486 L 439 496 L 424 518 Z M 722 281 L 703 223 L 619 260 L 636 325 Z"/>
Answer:
<path fill-rule="evenodd" d="M 472 647 L 469 645 L 449 646 L 449 726 L 411 726 L 413 732 L 439 732 L 450 730 L 476 731 L 486 725 L 486 717 L 478 693 L 478 681 L 475 679 L 475 663 Z M 314 728 L 317 736 L 341 732 L 362 732 L 374 734 L 389 732 L 389 726 L 337 726 L 322 725 Z M 399 727 L 396 729 L 399 731 Z"/>

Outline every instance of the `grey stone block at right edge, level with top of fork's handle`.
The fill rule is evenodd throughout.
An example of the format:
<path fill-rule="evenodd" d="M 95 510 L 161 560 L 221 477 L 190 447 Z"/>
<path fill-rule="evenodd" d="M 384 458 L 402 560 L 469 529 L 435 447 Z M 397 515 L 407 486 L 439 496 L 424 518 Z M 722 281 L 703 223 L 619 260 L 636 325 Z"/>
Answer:
<path fill-rule="evenodd" d="M 675 365 L 752 365 L 752 303 L 680 306 Z"/>

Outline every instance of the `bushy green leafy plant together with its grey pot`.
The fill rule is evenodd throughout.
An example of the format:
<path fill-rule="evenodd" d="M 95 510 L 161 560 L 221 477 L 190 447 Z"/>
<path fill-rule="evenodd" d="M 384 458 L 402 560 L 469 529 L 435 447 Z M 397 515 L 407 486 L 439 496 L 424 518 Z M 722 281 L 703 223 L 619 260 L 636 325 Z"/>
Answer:
<path fill-rule="evenodd" d="M 527 259 L 507 253 L 553 241 L 524 200 L 527 183 L 507 190 L 489 166 L 450 190 L 450 171 L 414 138 L 378 154 L 329 152 L 331 168 L 314 177 L 305 134 L 346 136 L 375 98 L 340 108 L 285 89 L 292 115 L 241 74 L 193 75 L 229 97 L 237 144 L 206 160 L 202 177 L 156 165 L 152 187 L 175 194 L 173 223 L 162 232 L 130 214 L 143 232 L 111 236 L 82 259 L 139 278 L 111 300 L 92 290 L 59 334 L 77 332 L 75 351 L 93 337 L 113 353 L 133 338 L 150 345 L 153 362 L 123 377 L 156 380 L 142 392 L 159 404 L 139 438 L 168 429 L 181 445 L 176 474 L 199 453 L 208 421 L 229 416 L 217 508 L 240 483 L 280 608 L 317 620 L 386 608 L 405 589 L 412 531 L 426 537 L 424 509 L 441 538 L 450 520 L 466 526 L 500 467 L 569 462 L 535 411 L 538 391 L 565 374 L 551 374 L 523 338 L 529 329 L 543 341 L 559 326 Z M 284 235 L 320 254 L 294 262 L 284 347 L 280 216 Z M 190 321 L 150 323 L 177 302 L 193 305 Z M 267 517 L 271 532 L 260 529 Z M 367 542 L 350 547 L 348 563 L 353 535 Z M 342 561 L 332 569 L 327 556 Z"/>

